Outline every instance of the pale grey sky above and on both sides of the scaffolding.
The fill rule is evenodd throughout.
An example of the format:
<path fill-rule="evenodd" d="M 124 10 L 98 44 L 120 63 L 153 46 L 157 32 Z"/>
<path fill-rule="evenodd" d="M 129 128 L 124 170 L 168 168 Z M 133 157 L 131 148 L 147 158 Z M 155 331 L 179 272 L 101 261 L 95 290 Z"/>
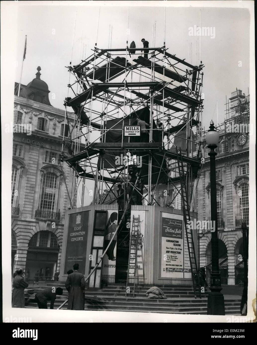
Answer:
<path fill-rule="evenodd" d="M 217 5 L 221 2 L 223 1 L 217 2 Z M 15 81 L 18 82 L 20 78 L 24 41 L 25 35 L 27 35 L 22 83 L 27 85 L 35 78 L 37 67 L 40 66 L 41 79 L 48 84 L 51 91 L 49 94 L 51 104 L 64 109 L 63 103 L 67 97 L 69 78 L 65 66 L 69 65 L 72 46 L 72 65 L 77 64 L 79 57 L 82 57 L 83 45 L 84 51 L 87 47 L 87 56 L 91 55 L 90 49 L 94 48 L 96 42 L 99 7 L 29 6 L 30 1 L 26 2 L 26 6 L 22 6 L 22 3 L 18 10 L 17 41 L 14 45 L 17 60 Z M 37 1 L 37 3 L 40 2 Z M 152 1 L 152 3 L 158 2 Z M 112 47 L 125 48 L 127 18 L 127 6 L 101 6 L 97 47 L 106 48 L 108 46 L 109 28 L 112 26 Z M 200 7 L 167 7 L 165 18 L 165 45 L 166 48 L 169 48 L 168 52 L 188 61 L 189 43 L 192 42 L 192 63 L 195 64 L 198 37 L 189 36 L 189 28 L 193 28 L 194 25 L 200 26 Z M 128 44 L 134 40 L 136 47 L 141 47 L 141 39 L 145 38 L 151 46 L 152 29 L 155 22 L 155 46 L 160 47 L 163 46 L 164 41 L 164 8 L 130 6 Z M 217 122 L 217 109 L 215 109 L 217 101 L 219 122 L 221 123 L 225 117 L 226 95 L 230 97 L 231 92 L 236 91 L 236 88 L 241 89 L 246 95 L 248 94 L 249 24 L 248 9 L 201 7 L 201 27 L 210 27 L 212 33 L 215 30 L 215 35 L 212 34 L 212 37 L 202 36 L 201 38 L 202 63 L 205 66 L 202 88 L 204 93 L 203 126 L 205 128 L 209 126 L 212 117 Z M 74 44 L 72 45 L 73 34 Z M 82 42 L 81 51 L 80 42 Z M 239 65 L 241 66 L 239 67 Z M 52 99 L 52 93 L 55 94 L 55 99 Z"/>

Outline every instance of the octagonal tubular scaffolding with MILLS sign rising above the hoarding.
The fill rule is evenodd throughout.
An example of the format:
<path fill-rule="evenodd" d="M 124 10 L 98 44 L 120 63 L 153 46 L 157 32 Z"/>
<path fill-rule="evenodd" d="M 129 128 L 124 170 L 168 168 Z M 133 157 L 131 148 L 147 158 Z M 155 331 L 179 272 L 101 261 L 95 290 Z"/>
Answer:
<path fill-rule="evenodd" d="M 70 124 L 65 116 L 68 134 L 63 134 L 60 161 L 66 162 L 73 174 L 73 194 L 69 196 L 71 208 L 85 206 L 88 196 L 93 204 L 117 202 L 117 233 L 122 219 L 130 219 L 131 200 L 131 204 L 142 205 L 143 199 L 148 205 L 159 205 L 156 189 L 160 184 L 168 186 L 168 194 L 172 186 L 176 195 L 182 196 L 184 192 L 177 187 L 181 176 L 171 177 L 182 165 L 182 179 L 187 184 L 184 188 L 187 212 L 193 210 L 202 167 L 204 66 L 202 61 L 199 63 L 199 53 L 195 65 L 192 60 L 192 45 L 189 45 L 189 62 L 168 52 L 164 23 L 161 47 L 155 47 L 153 28 L 150 48 L 130 49 L 128 37 L 125 47 L 111 48 L 109 30 L 107 48 L 98 48 L 96 43 L 89 57 L 75 66 L 71 63 L 67 66 L 69 80 L 73 78 L 74 82 L 68 84 L 73 95 L 65 99 L 65 108 L 66 114 L 69 107 L 73 109 L 74 122 Z M 148 114 L 149 128 L 144 139 L 142 136 L 140 141 L 138 137 L 125 137 L 124 126 L 136 125 L 137 119 L 145 121 L 145 114 Z M 195 135 L 193 127 L 196 127 Z M 116 141 L 110 139 L 114 133 Z M 180 146 L 175 145 L 178 142 Z M 67 148 L 69 156 L 65 154 Z M 142 157 L 142 168 L 128 163 L 137 156 Z M 128 159 L 125 164 L 121 161 L 114 164 L 117 157 Z M 87 180 L 94 181 L 93 193 L 87 188 Z M 122 191 L 118 195 L 114 193 L 117 185 Z M 192 277 L 194 274 L 198 274 L 197 267 Z"/>

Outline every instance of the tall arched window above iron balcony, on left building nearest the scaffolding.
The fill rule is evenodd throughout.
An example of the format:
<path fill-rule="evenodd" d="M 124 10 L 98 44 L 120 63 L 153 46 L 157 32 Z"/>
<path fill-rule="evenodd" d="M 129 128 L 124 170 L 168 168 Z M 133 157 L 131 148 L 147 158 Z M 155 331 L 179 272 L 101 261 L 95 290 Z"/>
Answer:
<path fill-rule="evenodd" d="M 42 211 L 54 211 L 56 196 L 57 176 L 53 172 L 47 172 L 44 176 L 40 209 Z"/>

